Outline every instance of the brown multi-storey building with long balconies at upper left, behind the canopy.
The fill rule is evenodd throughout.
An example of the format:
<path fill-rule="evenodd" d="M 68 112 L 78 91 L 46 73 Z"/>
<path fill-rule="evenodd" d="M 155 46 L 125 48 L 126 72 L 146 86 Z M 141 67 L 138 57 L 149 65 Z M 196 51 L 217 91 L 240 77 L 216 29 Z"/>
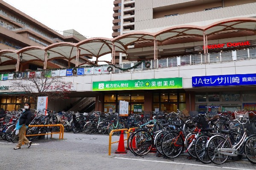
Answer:
<path fill-rule="evenodd" d="M 14 49 L 19 50 L 27 46 L 49 46 L 58 42 L 78 43 L 86 37 L 76 32 L 74 29 L 64 30 L 63 35 L 55 32 L 29 15 L 10 6 L 0 0 L 0 50 Z M 80 58 L 80 63 L 88 61 L 86 57 Z M 0 62 L 0 72 L 15 71 L 17 61 L 6 60 Z M 71 61 L 71 66 L 75 66 L 75 61 Z M 44 63 L 32 61 L 21 64 L 22 70 L 43 69 Z M 49 61 L 48 69 L 63 68 L 68 66 L 68 61 L 55 59 Z"/>

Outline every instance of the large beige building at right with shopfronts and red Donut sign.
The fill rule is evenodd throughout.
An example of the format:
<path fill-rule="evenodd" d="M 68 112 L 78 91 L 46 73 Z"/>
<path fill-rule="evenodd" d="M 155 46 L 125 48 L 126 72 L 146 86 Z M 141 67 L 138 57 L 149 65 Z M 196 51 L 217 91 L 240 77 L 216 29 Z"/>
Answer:
<path fill-rule="evenodd" d="M 117 112 L 120 100 L 129 102 L 129 113 L 256 110 L 253 0 L 115 0 L 113 4 L 114 38 L 95 42 L 107 44 L 101 49 L 112 53 L 115 66 L 76 68 L 82 72 L 76 75 L 60 75 L 68 71 L 60 69 L 59 76 L 76 87 L 70 92 L 73 98 L 95 97 L 95 110 L 101 112 Z M 82 43 L 86 41 L 74 47 L 85 48 Z M 1 76 L 3 87 L 17 81 Z M 9 100 L 2 98 L 2 104 Z M 18 96 L 13 100 L 17 104 Z"/>

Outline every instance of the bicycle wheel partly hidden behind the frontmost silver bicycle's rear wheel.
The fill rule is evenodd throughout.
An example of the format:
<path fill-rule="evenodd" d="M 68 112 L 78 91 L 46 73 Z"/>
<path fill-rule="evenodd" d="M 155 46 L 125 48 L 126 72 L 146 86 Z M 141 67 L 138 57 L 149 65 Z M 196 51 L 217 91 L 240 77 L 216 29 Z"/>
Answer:
<path fill-rule="evenodd" d="M 195 156 L 204 164 L 209 164 L 212 161 L 207 156 L 207 141 L 209 141 L 209 135 L 203 134 L 198 136 L 195 140 Z"/>

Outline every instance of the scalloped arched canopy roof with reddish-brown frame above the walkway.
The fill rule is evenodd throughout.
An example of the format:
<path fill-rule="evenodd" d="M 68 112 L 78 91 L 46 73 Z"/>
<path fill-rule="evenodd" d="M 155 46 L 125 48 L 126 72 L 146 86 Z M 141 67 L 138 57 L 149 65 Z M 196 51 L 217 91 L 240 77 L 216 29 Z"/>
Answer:
<path fill-rule="evenodd" d="M 177 38 L 203 37 L 204 33 L 211 36 L 236 30 L 255 32 L 256 18 L 233 18 L 221 20 L 208 26 L 174 26 L 155 33 L 131 32 L 111 39 L 97 37 L 82 40 L 79 43 L 54 43 L 47 47 L 29 46 L 20 50 L 6 49 L 0 51 L 0 65 L 7 61 L 17 61 L 17 54 L 22 56 L 24 61 L 44 61 L 45 52 L 49 53 L 48 60 L 63 58 L 70 61 L 76 58 L 76 52 L 79 49 L 80 55 L 92 55 L 99 58 L 102 55 L 112 53 L 113 45 L 115 52 L 126 53 L 128 46 L 134 43 L 146 43 L 154 40 L 164 42 Z"/>

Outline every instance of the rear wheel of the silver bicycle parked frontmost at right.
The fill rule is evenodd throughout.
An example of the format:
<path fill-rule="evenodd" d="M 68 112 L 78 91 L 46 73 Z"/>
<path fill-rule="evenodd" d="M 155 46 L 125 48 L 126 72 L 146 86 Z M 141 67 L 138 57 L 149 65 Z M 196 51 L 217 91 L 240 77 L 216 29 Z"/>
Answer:
<path fill-rule="evenodd" d="M 229 156 L 221 154 L 219 149 L 231 148 L 228 141 L 219 135 L 210 138 L 207 143 L 207 156 L 214 164 L 223 164 Z"/>

